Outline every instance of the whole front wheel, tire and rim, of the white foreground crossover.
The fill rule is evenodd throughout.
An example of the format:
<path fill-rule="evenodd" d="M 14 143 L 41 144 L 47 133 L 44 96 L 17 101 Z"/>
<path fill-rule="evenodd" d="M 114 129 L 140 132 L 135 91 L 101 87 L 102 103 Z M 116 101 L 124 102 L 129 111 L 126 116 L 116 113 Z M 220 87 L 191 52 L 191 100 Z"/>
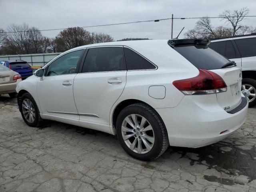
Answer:
<path fill-rule="evenodd" d="M 21 96 L 19 103 L 20 112 L 26 124 L 31 127 L 40 126 L 42 118 L 34 98 L 29 93 L 25 93 Z"/>

